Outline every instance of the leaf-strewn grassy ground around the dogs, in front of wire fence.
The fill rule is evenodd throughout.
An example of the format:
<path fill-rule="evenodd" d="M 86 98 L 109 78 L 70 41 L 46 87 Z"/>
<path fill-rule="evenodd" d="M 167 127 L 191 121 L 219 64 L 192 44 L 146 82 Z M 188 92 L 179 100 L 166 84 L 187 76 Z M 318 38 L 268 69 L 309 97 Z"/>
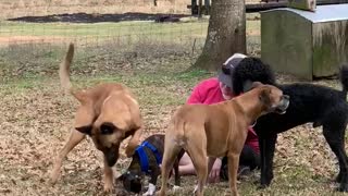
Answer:
<path fill-rule="evenodd" d="M 78 53 L 78 51 L 77 51 Z M 99 60 L 99 59 L 98 59 Z M 134 59 L 132 64 L 144 62 Z M 149 61 L 149 60 L 148 60 Z M 73 69 L 74 84 L 79 87 L 99 82 L 119 82 L 130 87 L 137 95 L 146 123 L 144 137 L 163 133 L 175 108 L 185 102 L 194 85 L 212 76 L 212 73 L 183 72 L 190 64 L 182 58 L 159 58 L 145 63 L 142 69 L 132 65 L 108 69 L 96 60 L 77 58 Z M 166 62 L 165 66 L 163 62 Z M 175 68 L 175 69 L 173 69 Z M 90 139 L 73 150 L 64 162 L 62 177 L 55 186 L 47 184 L 47 172 L 52 158 L 62 147 L 77 102 L 61 94 L 57 66 L 52 72 L 14 76 L 0 88 L 0 193 L 8 195 L 100 195 L 102 193 L 102 166 L 100 154 Z M 282 82 L 293 78 L 278 75 Z M 336 81 L 321 84 L 338 88 Z M 301 131 L 301 132 L 298 132 Z M 122 146 L 123 148 L 124 146 Z M 129 159 L 124 156 L 116 164 L 124 171 Z M 303 125 L 281 135 L 275 158 L 275 179 L 270 188 L 259 191 L 254 181 L 259 172 L 241 180 L 243 195 L 336 195 L 331 182 L 337 171 L 321 130 Z M 183 189 L 176 195 L 190 195 L 195 177 L 184 176 Z M 121 187 L 120 184 L 117 184 Z M 227 183 L 208 185 L 206 195 L 223 195 Z"/>

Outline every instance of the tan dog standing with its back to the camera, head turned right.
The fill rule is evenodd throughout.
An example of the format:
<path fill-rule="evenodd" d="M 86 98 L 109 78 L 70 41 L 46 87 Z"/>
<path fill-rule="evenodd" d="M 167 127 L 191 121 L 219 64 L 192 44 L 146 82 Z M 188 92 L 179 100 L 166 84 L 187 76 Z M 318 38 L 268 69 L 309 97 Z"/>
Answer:
<path fill-rule="evenodd" d="M 224 156 L 228 160 L 229 187 L 233 195 L 238 195 L 237 169 L 248 126 L 262 114 L 285 113 L 289 103 L 288 96 L 274 86 L 256 82 L 252 88 L 228 101 L 210 106 L 185 105 L 175 112 L 165 133 L 159 195 L 165 195 L 170 171 L 183 148 L 192 159 L 198 175 L 197 195 L 203 194 L 215 158 Z"/>

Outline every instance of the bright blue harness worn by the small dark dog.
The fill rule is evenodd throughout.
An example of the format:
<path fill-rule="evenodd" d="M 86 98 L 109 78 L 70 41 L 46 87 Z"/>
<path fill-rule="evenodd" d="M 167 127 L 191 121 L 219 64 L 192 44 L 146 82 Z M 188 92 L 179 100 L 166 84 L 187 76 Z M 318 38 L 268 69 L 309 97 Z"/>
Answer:
<path fill-rule="evenodd" d="M 141 171 L 145 172 L 145 173 L 150 173 L 149 171 L 149 159 L 148 159 L 148 156 L 145 151 L 145 147 L 149 148 L 154 157 L 156 157 L 156 162 L 158 166 L 160 166 L 162 163 L 162 156 L 161 154 L 159 152 L 159 150 L 153 146 L 151 145 L 150 143 L 148 143 L 147 140 L 145 140 L 141 145 L 139 145 L 135 151 L 138 154 L 139 156 L 139 161 L 140 161 L 140 167 L 141 167 Z"/>

